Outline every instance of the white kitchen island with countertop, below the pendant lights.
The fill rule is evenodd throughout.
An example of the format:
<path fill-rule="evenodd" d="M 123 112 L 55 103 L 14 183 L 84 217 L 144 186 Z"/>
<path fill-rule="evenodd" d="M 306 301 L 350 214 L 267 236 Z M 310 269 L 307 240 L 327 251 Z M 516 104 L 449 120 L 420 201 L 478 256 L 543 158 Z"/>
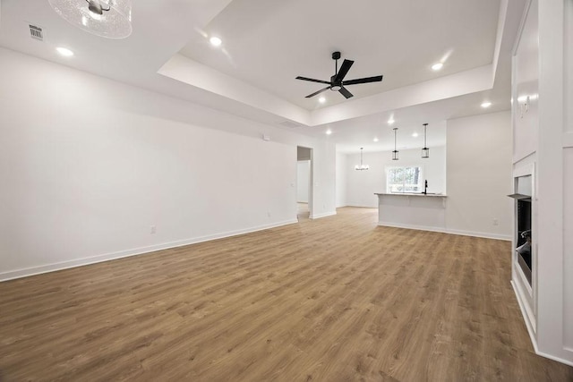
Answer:
<path fill-rule="evenodd" d="M 433 193 L 375 193 L 378 225 L 425 231 L 446 229 L 446 198 Z"/>

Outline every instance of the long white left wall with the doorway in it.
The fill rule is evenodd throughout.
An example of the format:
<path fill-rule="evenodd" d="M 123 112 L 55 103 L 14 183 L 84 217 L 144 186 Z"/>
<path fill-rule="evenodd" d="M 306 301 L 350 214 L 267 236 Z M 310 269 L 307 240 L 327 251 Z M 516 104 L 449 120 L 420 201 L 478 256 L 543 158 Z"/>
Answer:
<path fill-rule="evenodd" d="M 326 140 L 6 49 L 0 62 L 0 280 L 295 222 L 297 145 L 313 149 L 314 217 L 336 213 Z"/>

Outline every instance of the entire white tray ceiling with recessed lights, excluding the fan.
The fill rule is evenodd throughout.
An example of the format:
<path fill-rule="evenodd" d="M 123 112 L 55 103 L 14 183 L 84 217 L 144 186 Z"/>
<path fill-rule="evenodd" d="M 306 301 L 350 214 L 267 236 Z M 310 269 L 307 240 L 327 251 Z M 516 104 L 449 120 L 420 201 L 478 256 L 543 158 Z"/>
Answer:
<path fill-rule="evenodd" d="M 509 109 L 510 53 L 525 0 L 135 0 L 133 34 L 113 40 L 60 18 L 47 0 L 0 0 L 0 46 L 243 116 L 325 137 L 343 152 L 444 143 L 444 121 Z M 83 0 L 78 0 L 83 1 Z M 29 23 L 45 30 L 30 38 Z M 223 40 L 212 47 L 211 36 Z M 73 50 L 71 58 L 55 47 Z M 354 98 L 326 91 L 330 55 L 355 64 Z M 434 72 L 432 64 L 442 62 Z M 341 62 L 339 62 L 340 64 Z M 489 100 L 492 106 L 479 105 Z M 390 117 L 396 121 L 390 126 Z M 438 138 L 440 136 L 441 138 Z M 378 142 L 373 139 L 378 138 Z"/>

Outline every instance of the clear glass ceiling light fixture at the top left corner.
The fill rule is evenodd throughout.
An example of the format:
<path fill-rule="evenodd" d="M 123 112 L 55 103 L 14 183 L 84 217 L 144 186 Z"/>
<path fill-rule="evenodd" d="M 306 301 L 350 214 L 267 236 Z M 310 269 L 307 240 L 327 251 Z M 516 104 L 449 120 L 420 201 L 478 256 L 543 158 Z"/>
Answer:
<path fill-rule="evenodd" d="M 133 0 L 48 0 L 57 14 L 81 30 L 102 38 L 132 34 Z"/>

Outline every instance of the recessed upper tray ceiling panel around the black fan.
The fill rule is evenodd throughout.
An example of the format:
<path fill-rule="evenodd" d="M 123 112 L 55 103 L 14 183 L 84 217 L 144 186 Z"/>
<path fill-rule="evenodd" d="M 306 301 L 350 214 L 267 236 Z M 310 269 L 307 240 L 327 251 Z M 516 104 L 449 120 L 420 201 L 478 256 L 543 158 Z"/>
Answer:
<path fill-rule="evenodd" d="M 181 54 L 307 110 L 304 96 L 329 81 L 331 53 L 354 60 L 346 80 L 384 74 L 378 83 L 349 86 L 355 98 L 491 64 L 500 1 L 234 0 L 198 32 Z M 431 21 L 431 22 L 428 22 Z M 218 36 L 213 48 L 204 36 Z M 443 60 L 440 72 L 432 64 Z M 325 93 L 328 105 L 345 102 Z"/>

